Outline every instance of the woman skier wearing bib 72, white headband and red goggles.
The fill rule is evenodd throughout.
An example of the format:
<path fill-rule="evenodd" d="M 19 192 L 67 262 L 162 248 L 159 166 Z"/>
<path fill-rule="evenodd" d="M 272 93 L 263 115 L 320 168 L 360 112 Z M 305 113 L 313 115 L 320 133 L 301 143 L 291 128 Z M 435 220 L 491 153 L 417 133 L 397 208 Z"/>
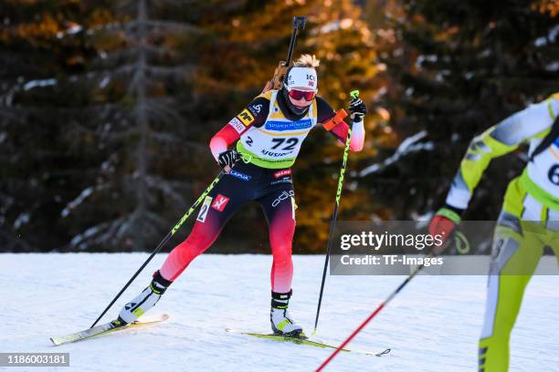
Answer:
<path fill-rule="evenodd" d="M 271 267 L 270 323 L 276 334 L 302 336 L 288 313 L 293 263 L 291 244 L 295 232 L 295 192 L 291 165 L 311 129 L 322 127 L 345 143 L 348 125 L 343 110 L 336 113 L 317 97 L 315 67 L 319 60 L 303 55 L 285 75 L 283 87 L 269 90 L 252 100 L 210 141 L 216 161 L 227 172 L 209 193 L 185 242 L 169 253 L 153 274 L 152 283 L 122 307 L 113 323 L 136 320 L 157 303 L 167 287 L 216 240 L 227 220 L 249 201 L 259 202 L 269 224 Z M 353 120 L 350 150 L 364 145 L 366 109 L 359 98 L 350 101 Z M 235 149 L 231 149 L 236 144 Z"/>

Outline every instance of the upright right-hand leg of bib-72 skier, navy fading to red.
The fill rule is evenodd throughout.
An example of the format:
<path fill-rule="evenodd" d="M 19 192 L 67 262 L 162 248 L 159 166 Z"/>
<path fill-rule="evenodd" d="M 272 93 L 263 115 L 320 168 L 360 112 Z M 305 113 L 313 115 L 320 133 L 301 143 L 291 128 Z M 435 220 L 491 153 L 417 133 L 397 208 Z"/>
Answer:
<path fill-rule="evenodd" d="M 301 325 L 288 312 L 293 278 L 291 246 L 295 233 L 295 200 L 290 183 L 283 183 L 259 200 L 269 223 L 269 243 L 273 255 L 270 274 L 272 299 L 270 324 L 274 333 L 301 336 Z"/>

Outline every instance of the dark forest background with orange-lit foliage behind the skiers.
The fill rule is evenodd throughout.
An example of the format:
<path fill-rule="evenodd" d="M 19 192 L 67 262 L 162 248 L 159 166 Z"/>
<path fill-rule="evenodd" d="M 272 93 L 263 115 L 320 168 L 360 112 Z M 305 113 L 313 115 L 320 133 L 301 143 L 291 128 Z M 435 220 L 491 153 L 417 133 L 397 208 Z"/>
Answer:
<path fill-rule="evenodd" d="M 320 94 L 361 91 L 340 220 L 427 220 L 469 140 L 559 90 L 553 0 L 1 0 L 0 252 L 151 251 L 219 171 L 211 137 L 285 58 Z M 323 253 L 343 147 L 322 129 L 294 166 L 294 253 Z M 494 220 L 525 152 L 494 161 L 465 218 Z M 194 220 L 194 218 L 192 219 Z M 192 221 L 167 244 L 185 238 Z M 214 253 L 267 253 L 256 204 Z"/>

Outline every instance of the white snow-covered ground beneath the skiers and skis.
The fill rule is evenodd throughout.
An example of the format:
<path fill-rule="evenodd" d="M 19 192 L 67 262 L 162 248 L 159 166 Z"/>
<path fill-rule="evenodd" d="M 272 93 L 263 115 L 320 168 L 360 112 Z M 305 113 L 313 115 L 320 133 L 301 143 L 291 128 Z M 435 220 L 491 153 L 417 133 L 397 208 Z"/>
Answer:
<path fill-rule="evenodd" d="M 147 258 L 120 254 L 0 254 L 0 352 L 69 352 L 56 371 L 311 371 L 330 350 L 226 333 L 269 331 L 268 255 L 212 255 L 195 260 L 151 314 L 167 322 L 89 341 L 51 346 L 90 326 Z M 111 309 L 149 283 L 153 259 Z M 291 313 L 311 334 L 322 256 L 295 256 Z M 401 276 L 329 276 L 317 338 L 338 345 L 403 280 Z M 350 344 L 389 355 L 337 356 L 329 371 L 475 371 L 485 301 L 483 276 L 417 276 Z M 559 277 L 529 284 L 512 334 L 511 371 L 559 370 Z M 3 368 L 0 367 L 0 370 Z M 4 368 L 10 369 L 11 368 Z"/>

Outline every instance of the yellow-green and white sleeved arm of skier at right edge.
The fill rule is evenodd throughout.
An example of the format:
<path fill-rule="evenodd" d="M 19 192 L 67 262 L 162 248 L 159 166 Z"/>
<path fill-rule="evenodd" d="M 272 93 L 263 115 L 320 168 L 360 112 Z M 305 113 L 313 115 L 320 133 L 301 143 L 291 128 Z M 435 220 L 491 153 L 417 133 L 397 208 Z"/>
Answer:
<path fill-rule="evenodd" d="M 474 138 L 452 182 L 447 205 L 458 211 L 467 209 L 490 161 L 516 150 L 523 142 L 544 137 L 557 113 L 559 97 L 552 97 L 513 114 Z"/>

